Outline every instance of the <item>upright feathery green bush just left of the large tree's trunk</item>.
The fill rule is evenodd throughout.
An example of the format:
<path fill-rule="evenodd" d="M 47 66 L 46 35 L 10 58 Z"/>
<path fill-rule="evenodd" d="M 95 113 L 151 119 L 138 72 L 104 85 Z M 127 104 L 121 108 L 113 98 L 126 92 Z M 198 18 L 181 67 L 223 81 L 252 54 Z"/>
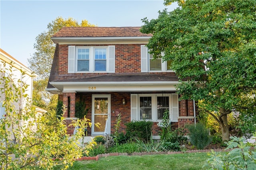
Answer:
<path fill-rule="evenodd" d="M 211 138 L 208 130 L 202 123 L 196 125 L 188 125 L 189 136 L 191 143 L 198 149 L 204 149 L 205 146 L 210 144 Z"/>

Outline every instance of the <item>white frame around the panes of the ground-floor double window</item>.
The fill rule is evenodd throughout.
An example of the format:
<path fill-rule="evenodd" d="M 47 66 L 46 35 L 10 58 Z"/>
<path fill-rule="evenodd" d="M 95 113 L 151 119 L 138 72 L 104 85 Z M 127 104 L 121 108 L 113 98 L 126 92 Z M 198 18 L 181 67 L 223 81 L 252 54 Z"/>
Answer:
<path fill-rule="evenodd" d="M 146 121 L 153 121 L 153 122 L 159 122 L 162 119 L 157 119 L 157 97 L 169 97 L 169 119 L 172 119 L 172 122 L 178 122 L 178 120 L 173 120 L 173 105 L 172 105 L 172 93 L 157 93 L 157 94 L 137 94 L 137 118 L 139 121 L 142 121 L 143 119 L 140 119 L 140 97 L 151 97 L 151 103 L 152 103 L 152 119 L 146 119 Z M 178 108 L 179 111 L 179 108 Z M 179 113 L 178 113 L 179 115 Z"/>

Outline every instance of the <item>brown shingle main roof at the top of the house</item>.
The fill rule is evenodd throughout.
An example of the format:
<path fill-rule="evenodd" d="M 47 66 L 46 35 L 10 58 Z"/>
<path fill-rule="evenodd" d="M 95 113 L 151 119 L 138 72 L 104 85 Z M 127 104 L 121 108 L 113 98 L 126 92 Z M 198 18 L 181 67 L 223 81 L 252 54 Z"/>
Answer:
<path fill-rule="evenodd" d="M 147 37 L 141 27 L 63 27 L 52 38 L 60 37 Z"/>

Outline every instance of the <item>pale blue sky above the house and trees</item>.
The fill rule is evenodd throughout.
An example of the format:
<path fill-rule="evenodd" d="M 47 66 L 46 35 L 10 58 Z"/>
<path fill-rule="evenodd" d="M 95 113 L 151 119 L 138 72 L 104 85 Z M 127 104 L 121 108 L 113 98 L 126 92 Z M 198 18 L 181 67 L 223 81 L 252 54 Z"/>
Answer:
<path fill-rule="evenodd" d="M 171 11 L 177 4 L 164 0 L 0 0 L 0 48 L 28 66 L 35 52 L 36 36 L 47 31 L 57 17 L 99 27 L 142 26 L 141 19 L 158 18 L 158 11 Z"/>

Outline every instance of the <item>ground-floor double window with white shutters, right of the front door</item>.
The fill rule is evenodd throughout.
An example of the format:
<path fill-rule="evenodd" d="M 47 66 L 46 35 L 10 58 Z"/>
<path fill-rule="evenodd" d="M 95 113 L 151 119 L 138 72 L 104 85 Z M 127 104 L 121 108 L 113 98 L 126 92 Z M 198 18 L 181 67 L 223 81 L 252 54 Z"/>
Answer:
<path fill-rule="evenodd" d="M 169 113 L 172 122 L 178 121 L 178 94 L 132 94 L 131 120 L 160 121 Z"/>

